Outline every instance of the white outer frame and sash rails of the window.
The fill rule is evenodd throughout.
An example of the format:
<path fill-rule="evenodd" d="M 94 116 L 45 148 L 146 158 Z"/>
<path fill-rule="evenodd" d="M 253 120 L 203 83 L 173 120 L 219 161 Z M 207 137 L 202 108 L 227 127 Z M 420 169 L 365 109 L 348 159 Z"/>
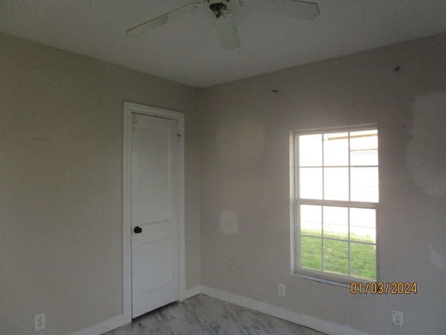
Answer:
<path fill-rule="evenodd" d="M 352 276 L 342 276 L 339 274 L 331 274 L 329 272 L 305 269 L 300 265 L 300 204 L 315 204 L 321 206 L 336 206 L 336 207 L 355 207 L 364 209 L 375 209 L 376 211 L 376 280 L 379 278 L 379 247 L 378 247 L 378 202 L 357 202 L 357 201 L 341 201 L 341 200 L 312 200 L 312 199 L 300 199 L 299 195 L 299 144 L 298 137 L 300 135 L 313 135 L 313 134 L 327 134 L 327 133 L 342 133 L 353 131 L 378 131 L 376 124 L 366 124 L 361 126 L 345 126 L 337 128 L 316 128 L 308 129 L 305 131 L 292 131 L 290 133 L 290 200 L 291 200 L 291 275 L 301 278 L 308 278 L 314 281 L 322 283 L 330 283 L 332 285 L 339 285 L 344 287 L 350 287 L 352 282 L 373 282 L 364 278 L 357 278 Z M 379 142 L 378 131 L 378 142 Z M 350 184 L 350 154 L 348 161 L 348 182 Z M 378 148 L 379 157 L 379 148 Z M 378 158 L 378 176 L 379 176 L 379 158 Z M 349 192 L 351 191 L 349 185 Z M 379 191 L 378 191 L 379 192 Z M 350 231 L 350 224 L 348 225 Z M 323 239 L 323 237 L 321 237 Z M 348 243 L 350 245 L 350 236 L 348 236 Z M 348 248 L 348 258 L 350 265 L 350 248 Z"/>

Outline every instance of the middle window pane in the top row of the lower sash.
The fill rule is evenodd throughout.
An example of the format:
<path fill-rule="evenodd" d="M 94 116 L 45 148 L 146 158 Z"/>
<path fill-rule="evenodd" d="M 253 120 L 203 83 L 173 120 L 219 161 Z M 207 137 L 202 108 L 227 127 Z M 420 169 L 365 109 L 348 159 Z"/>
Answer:
<path fill-rule="evenodd" d="M 348 239 L 347 207 L 323 207 L 323 236 Z"/>

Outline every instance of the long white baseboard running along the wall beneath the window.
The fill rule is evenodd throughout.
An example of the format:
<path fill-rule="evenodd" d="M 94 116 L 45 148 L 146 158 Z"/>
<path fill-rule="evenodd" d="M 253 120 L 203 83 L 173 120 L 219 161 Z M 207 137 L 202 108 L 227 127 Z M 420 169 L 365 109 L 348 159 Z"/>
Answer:
<path fill-rule="evenodd" d="M 323 332 L 328 335 L 367 335 L 346 325 L 339 325 L 334 322 L 319 320 L 312 316 L 294 313 L 285 308 L 272 306 L 265 302 L 243 297 L 241 295 L 235 295 L 231 292 L 218 290 L 217 288 L 209 288 L 208 286 L 201 285 L 200 292 L 203 293 L 203 295 L 208 295 L 216 299 L 230 302 L 231 304 L 252 309 L 253 311 L 272 315 L 279 319 L 316 329 L 318 332 Z"/>

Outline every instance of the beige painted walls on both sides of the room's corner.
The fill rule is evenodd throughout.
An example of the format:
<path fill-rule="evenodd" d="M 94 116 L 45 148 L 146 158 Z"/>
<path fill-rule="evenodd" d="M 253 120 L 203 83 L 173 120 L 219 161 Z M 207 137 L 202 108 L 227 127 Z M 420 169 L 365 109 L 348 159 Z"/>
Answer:
<path fill-rule="evenodd" d="M 0 334 L 33 334 L 36 313 L 42 335 L 122 313 L 123 101 L 185 112 L 187 288 L 369 334 L 440 334 L 445 59 L 441 35 L 197 91 L 0 35 Z M 289 131 L 368 123 L 380 131 L 380 280 L 417 281 L 417 295 L 353 296 L 289 274 Z"/>

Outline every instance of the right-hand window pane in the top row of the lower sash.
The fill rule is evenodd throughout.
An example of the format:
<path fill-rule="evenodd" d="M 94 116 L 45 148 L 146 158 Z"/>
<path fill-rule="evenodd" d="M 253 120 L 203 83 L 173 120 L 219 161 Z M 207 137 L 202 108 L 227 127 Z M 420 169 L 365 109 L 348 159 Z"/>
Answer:
<path fill-rule="evenodd" d="M 376 243 L 375 209 L 350 209 L 350 239 Z"/>

